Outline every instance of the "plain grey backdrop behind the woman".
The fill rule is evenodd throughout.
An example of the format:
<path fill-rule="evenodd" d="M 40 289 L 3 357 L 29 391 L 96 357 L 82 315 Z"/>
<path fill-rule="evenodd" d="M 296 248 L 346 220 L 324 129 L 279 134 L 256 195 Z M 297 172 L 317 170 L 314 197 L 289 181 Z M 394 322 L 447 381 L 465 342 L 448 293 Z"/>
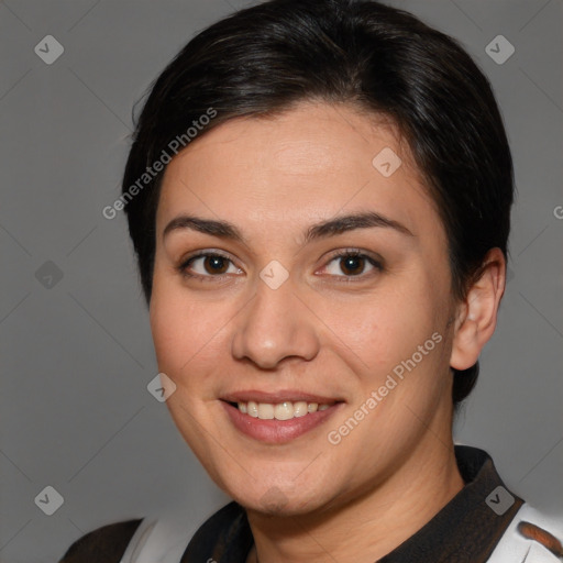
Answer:
<path fill-rule="evenodd" d="M 507 294 L 455 437 L 561 514 L 562 1 L 393 3 L 474 55 L 516 163 Z M 88 530 L 170 505 L 195 529 L 227 501 L 146 390 L 157 368 L 125 221 L 101 210 L 119 194 L 133 103 L 194 32 L 242 5 L 0 2 L 2 563 L 56 561 Z M 52 65 L 34 53 L 47 34 L 65 48 Z M 485 52 L 499 34 L 516 48 L 501 65 Z M 47 485 L 64 497 L 53 516 L 34 503 Z"/>

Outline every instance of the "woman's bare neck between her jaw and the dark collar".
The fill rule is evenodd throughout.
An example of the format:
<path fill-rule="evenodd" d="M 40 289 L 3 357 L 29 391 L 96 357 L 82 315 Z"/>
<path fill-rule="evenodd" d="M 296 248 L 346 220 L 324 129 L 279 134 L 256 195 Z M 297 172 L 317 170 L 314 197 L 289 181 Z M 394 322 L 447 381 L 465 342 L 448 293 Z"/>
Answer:
<path fill-rule="evenodd" d="M 410 538 L 462 488 L 453 442 L 432 438 L 384 483 L 316 512 L 247 510 L 255 545 L 249 563 L 373 563 Z"/>

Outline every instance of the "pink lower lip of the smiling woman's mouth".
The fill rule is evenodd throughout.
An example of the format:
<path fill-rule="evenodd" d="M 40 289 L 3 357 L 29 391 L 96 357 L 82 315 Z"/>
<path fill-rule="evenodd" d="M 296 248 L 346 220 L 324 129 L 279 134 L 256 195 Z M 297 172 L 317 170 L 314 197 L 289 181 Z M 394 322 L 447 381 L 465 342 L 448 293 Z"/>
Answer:
<path fill-rule="evenodd" d="M 299 438 L 310 430 L 322 424 L 332 415 L 334 415 L 343 402 L 336 402 L 324 410 L 309 412 L 303 417 L 291 418 L 289 420 L 263 420 L 242 413 L 236 407 L 227 401 L 221 401 L 231 422 L 243 434 L 269 444 L 283 444 Z"/>

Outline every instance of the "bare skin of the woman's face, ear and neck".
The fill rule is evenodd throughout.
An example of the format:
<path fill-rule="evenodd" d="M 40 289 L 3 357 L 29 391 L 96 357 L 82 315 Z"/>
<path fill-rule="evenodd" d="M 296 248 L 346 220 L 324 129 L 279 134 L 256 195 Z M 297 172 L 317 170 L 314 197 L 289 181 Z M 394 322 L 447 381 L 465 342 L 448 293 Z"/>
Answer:
<path fill-rule="evenodd" d="M 402 159 L 390 177 L 372 165 L 385 147 Z M 366 210 L 411 235 L 375 227 L 303 243 L 311 224 Z M 244 242 L 191 229 L 163 236 L 188 213 L 229 221 Z M 247 561 L 373 562 L 460 492 L 451 367 L 473 365 L 493 334 L 505 262 L 492 250 L 466 299 L 454 298 L 444 229 L 390 124 L 322 102 L 227 121 L 167 166 L 156 241 L 150 314 L 159 371 L 176 384 L 167 406 L 209 475 L 246 508 Z M 383 267 L 360 261 L 351 275 L 333 258 L 350 249 Z M 196 261 L 188 272 L 202 280 L 181 274 L 187 257 L 210 251 L 232 262 L 213 274 L 209 260 Z M 260 277 L 273 260 L 289 273 L 277 289 Z M 416 368 L 329 443 L 437 332 L 441 342 Z M 299 389 L 343 405 L 290 443 L 268 444 L 227 417 L 220 397 L 241 389 Z"/>

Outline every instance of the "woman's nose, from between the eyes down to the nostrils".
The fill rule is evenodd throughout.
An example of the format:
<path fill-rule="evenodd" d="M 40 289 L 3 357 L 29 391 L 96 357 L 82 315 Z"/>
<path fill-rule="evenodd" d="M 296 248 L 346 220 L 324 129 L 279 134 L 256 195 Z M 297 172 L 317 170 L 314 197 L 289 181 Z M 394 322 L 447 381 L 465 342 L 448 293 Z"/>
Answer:
<path fill-rule="evenodd" d="M 295 292 L 290 278 L 277 289 L 261 280 L 238 318 L 232 339 L 236 360 L 273 369 L 285 358 L 310 361 L 319 352 L 316 317 Z"/>

